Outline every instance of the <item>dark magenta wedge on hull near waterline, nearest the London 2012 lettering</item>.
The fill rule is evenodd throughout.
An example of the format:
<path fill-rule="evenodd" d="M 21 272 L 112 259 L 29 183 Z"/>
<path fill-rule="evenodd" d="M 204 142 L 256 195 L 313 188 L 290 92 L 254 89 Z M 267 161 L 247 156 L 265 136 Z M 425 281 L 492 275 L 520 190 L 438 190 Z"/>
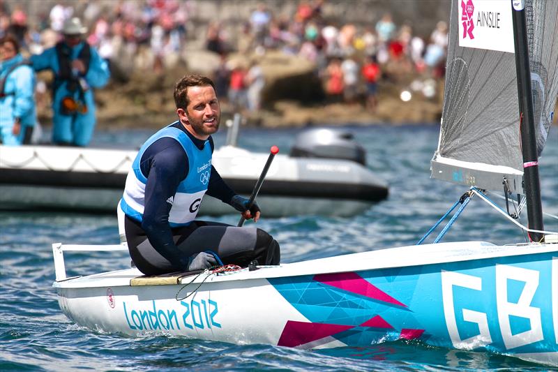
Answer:
<path fill-rule="evenodd" d="M 353 328 L 352 325 L 330 325 L 325 323 L 308 323 L 287 320 L 285 328 L 279 338 L 278 346 L 288 346 L 295 348 L 312 341 L 319 340 L 339 332 Z"/>

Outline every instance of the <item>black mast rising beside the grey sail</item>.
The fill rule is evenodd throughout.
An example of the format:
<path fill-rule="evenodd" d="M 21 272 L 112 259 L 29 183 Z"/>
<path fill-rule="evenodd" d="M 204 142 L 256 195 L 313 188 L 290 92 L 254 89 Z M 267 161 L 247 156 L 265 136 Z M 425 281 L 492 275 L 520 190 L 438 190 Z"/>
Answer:
<path fill-rule="evenodd" d="M 527 45 L 527 22 L 525 21 L 525 0 L 512 0 L 513 40 L 515 43 L 515 70 L 518 75 L 518 98 L 520 110 L 520 143 L 523 156 L 523 180 L 527 198 L 527 218 L 529 228 L 543 230 L 543 208 L 541 184 L 538 179 L 538 154 L 536 131 L 531 94 L 531 69 L 529 66 L 529 46 Z M 530 232 L 531 241 L 544 241 L 540 232 Z"/>

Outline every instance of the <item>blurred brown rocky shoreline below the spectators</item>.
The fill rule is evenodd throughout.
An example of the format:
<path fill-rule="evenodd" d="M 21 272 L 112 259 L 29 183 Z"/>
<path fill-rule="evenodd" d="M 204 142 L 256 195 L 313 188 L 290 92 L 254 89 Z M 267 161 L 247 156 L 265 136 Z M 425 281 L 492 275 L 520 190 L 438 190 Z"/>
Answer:
<path fill-rule="evenodd" d="M 187 70 L 186 66 L 177 66 L 160 75 L 142 71 L 130 75 L 125 82 L 114 79 L 104 89 L 96 91 L 97 128 L 160 128 L 174 121 L 174 82 Z M 49 80 L 48 76 L 42 78 Z M 400 92 L 409 89 L 413 79 L 416 76 L 395 82 L 379 82 L 377 109 L 369 112 L 363 103 L 326 103 L 324 99 L 312 100 L 311 96 L 289 98 L 292 89 L 316 83 L 300 71 L 281 73 L 278 68 L 268 66 L 264 107 L 258 112 L 243 112 L 243 126 L 278 128 L 345 124 L 438 124 L 442 113 L 443 82 L 438 83 L 437 94 L 433 98 L 418 93 L 413 94 L 410 101 L 403 102 Z M 308 89 L 308 95 L 315 88 Z M 45 97 L 45 101 L 50 101 L 50 95 Z M 225 99 L 221 101 L 221 110 L 224 120 L 234 114 Z M 52 123 L 50 103 L 39 105 L 38 114 L 43 126 Z"/>

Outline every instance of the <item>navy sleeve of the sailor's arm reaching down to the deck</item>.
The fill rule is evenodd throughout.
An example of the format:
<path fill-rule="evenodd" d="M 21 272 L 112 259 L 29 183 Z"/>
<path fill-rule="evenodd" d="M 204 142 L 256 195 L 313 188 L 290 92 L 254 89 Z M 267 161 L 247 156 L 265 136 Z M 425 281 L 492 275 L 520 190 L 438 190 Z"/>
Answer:
<path fill-rule="evenodd" d="M 180 182 L 188 174 L 188 156 L 176 140 L 161 138 L 151 144 L 142 161 L 142 172 L 146 174 L 145 209 L 142 220 L 151 246 L 177 267 L 186 269 L 188 258 L 179 253 L 172 239 L 169 212 L 172 204 L 167 200 L 174 196 Z M 151 151 L 150 151 L 151 150 Z M 151 154 L 155 153 L 153 156 Z M 144 168 L 148 168 L 144 171 Z"/>

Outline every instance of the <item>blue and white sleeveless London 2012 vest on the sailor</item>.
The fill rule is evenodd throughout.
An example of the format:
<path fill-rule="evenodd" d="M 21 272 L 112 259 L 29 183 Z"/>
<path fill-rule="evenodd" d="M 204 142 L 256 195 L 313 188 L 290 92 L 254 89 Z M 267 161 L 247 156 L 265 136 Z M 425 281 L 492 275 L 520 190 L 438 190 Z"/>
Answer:
<path fill-rule="evenodd" d="M 126 186 L 121 198 L 120 206 L 124 213 L 135 221 L 142 222 L 145 207 L 145 185 L 147 178 L 142 173 L 140 161 L 146 149 L 156 140 L 171 137 L 178 141 L 188 156 L 188 174 L 176 189 L 176 194 L 167 202 L 172 204 L 169 213 L 169 225 L 172 228 L 188 225 L 194 221 L 202 202 L 209 177 L 211 175 L 211 145 L 209 140 L 204 142 L 204 148 L 198 149 L 190 137 L 179 128 L 167 126 L 147 140 L 135 157 L 132 169 L 126 177 Z"/>

